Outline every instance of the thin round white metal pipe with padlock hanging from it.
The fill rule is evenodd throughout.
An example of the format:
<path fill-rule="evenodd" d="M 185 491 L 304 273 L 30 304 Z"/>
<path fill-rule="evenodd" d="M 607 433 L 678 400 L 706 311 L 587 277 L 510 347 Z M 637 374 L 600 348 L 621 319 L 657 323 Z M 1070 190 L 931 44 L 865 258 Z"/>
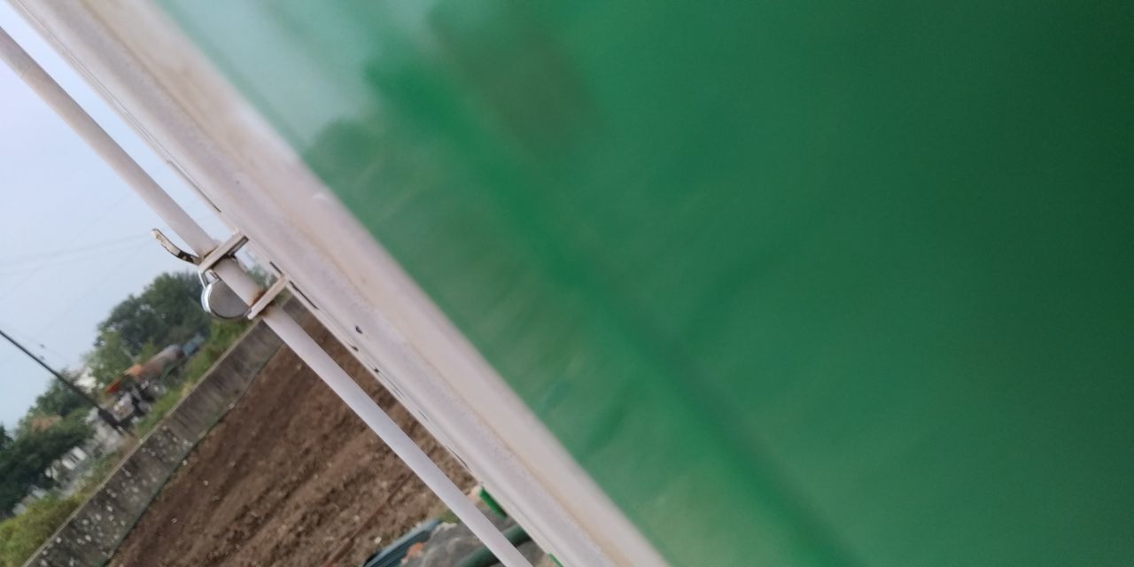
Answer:
<path fill-rule="evenodd" d="M 54 79 L 0 28 L 0 58 L 110 164 L 119 176 L 200 256 L 214 246 L 212 237 L 79 107 Z M 231 259 L 217 263 L 217 274 L 249 305 L 261 294 L 260 286 Z M 484 542 L 506 567 L 531 564 L 496 526 L 465 497 L 398 424 L 279 306 L 264 311 L 264 322 L 299 358 L 342 399 L 366 425 L 400 457 L 426 486 Z"/>

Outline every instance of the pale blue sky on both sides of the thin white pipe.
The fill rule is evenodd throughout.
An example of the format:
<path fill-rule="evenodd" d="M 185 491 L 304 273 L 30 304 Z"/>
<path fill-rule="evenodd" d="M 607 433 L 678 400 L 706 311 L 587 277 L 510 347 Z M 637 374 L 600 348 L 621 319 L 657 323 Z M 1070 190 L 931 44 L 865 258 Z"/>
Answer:
<path fill-rule="evenodd" d="M 225 225 L 7 2 L 7 31 L 208 230 Z M 0 64 L 0 329 L 56 369 L 79 369 L 95 325 L 154 276 L 191 265 L 150 236 L 175 234 Z M 0 423 L 16 425 L 51 375 L 0 340 Z"/>

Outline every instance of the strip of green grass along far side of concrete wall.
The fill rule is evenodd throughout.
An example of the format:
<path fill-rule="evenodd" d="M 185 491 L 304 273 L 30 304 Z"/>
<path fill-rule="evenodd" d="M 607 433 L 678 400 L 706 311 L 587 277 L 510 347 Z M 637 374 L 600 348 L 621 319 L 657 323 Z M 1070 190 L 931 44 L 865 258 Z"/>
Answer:
<path fill-rule="evenodd" d="M 135 441 L 125 445 L 116 451 L 95 457 L 91 465 L 91 471 L 83 483 L 83 486 L 67 498 L 60 498 L 58 493 L 49 496 L 33 502 L 18 516 L 0 522 L 0 567 L 19 567 L 24 565 L 36 549 L 43 544 L 64 522 L 85 502 L 91 494 L 107 480 L 118 467 L 121 458 L 137 443 L 137 440 L 145 438 L 161 423 L 169 412 L 177 406 L 195 386 L 205 372 L 212 367 L 228 347 L 247 328 L 247 323 L 213 321 L 209 340 L 201 346 L 181 367 L 180 375 L 166 393 L 154 400 L 150 407 L 150 413 L 137 421 L 134 426 Z"/>

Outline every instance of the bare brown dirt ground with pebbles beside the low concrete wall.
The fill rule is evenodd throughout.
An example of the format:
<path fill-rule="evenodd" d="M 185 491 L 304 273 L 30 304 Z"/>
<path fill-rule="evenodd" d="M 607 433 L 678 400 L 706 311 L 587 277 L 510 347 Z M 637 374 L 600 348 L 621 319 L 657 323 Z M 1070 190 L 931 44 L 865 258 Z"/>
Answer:
<path fill-rule="evenodd" d="M 456 459 L 308 319 L 305 327 L 331 345 L 347 372 L 450 479 L 471 486 Z M 333 565 L 357 566 L 439 509 L 421 481 L 285 347 L 197 445 L 110 565 L 310 567 L 345 548 Z"/>

